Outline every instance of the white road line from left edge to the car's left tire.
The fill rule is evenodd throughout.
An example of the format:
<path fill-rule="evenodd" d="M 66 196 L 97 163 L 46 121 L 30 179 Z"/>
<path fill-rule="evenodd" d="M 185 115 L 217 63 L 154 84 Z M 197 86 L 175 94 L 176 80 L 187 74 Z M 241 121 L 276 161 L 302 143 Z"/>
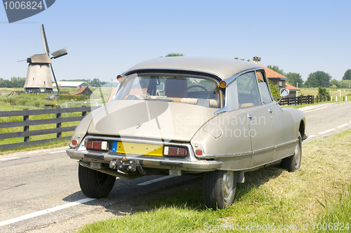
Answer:
<path fill-rule="evenodd" d="M 72 206 L 77 206 L 79 204 L 83 204 L 83 203 L 86 203 L 88 201 L 93 201 L 95 199 L 93 198 L 86 198 L 86 199 L 81 199 L 81 200 L 78 200 L 78 201 L 74 201 L 74 202 L 71 202 L 71 203 L 68 203 L 68 204 L 64 204 L 62 206 L 56 206 L 56 207 L 53 207 L 53 208 L 47 208 L 46 210 L 44 211 L 38 211 L 38 212 L 35 212 L 35 213 L 29 213 L 27 215 L 23 215 L 23 216 L 20 216 L 18 218 L 13 218 L 13 219 L 9 219 L 9 220 L 5 220 L 5 221 L 2 221 L 0 222 L 0 227 L 4 226 L 4 225 L 8 225 L 8 224 L 11 224 L 11 223 L 14 223 L 14 222 L 19 222 L 19 221 L 22 221 L 22 220 L 27 220 L 29 218 L 34 218 L 34 217 L 37 217 L 39 215 L 44 215 L 46 213 L 51 213 L 51 212 L 55 212 L 55 211 L 60 211 L 64 208 L 69 208 L 69 207 L 72 207 Z"/>

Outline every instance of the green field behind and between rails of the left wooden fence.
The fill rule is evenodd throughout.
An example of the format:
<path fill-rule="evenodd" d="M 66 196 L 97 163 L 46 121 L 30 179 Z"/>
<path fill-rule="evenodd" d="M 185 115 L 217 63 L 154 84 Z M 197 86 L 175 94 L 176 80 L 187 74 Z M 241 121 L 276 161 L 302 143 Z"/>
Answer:
<path fill-rule="evenodd" d="M 85 95 L 69 95 L 60 93 L 57 98 L 50 98 L 53 94 L 26 94 L 26 93 L 17 93 L 15 91 L 21 91 L 20 89 L 14 88 L 0 88 L 0 111 L 15 111 L 22 110 L 25 108 L 28 109 L 44 109 L 45 105 L 52 105 L 53 107 L 58 107 L 62 105 L 62 107 L 81 107 L 82 105 L 86 106 L 96 106 L 102 105 L 103 100 L 101 95 L 104 95 L 105 98 L 108 98 L 110 95 L 111 88 L 92 88 L 92 90 L 97 89 L 98 91 L 93 92 L 93 96 L 95 99 L 88 99 Z M 77 88 L 62 88 L 62 91 L 65 92 L 75 92 Z M 90 102 L 91 101 L 91 102 Z M 68 116 L 81 116 L 81 113 L 64 113 L 62 117 Z M 38 119 L 53 119 L 55 118 L 55 114 L 45 114 L 45 115 L 37 115 L 37 116 L 29 116 L 29 120 L 38 120 Z M 8 121 L 22 121 L 23 116 L 9 116 L 9 117 L 1 117 L 0 122 L 8 122 Z M 62 127 L 68 126 L 77 126 L 79 121 L 74 122 L 66 122 L 62 123 Z M 38 125 L 38 126 L 29 126 L 29 131 L 37 131 L 48 128 L 56 128 L 56 124 L 46 124 L 46 125 Z M 23 127 L 11 127 L 11 128 L 0 128 L 0 133 L 14 133 L 23 131 Z M 72 135 L 71 132 L 62 133 L 62 137 Z M 47 135 L 36 135 L 31 136 L 29 138 L 30 141 L 34 140 L 44 140 L 49 138 L 56 138 L 56 134 L 47 134 Z M 23 142 L 23 138 L 9 138 L 0 140 L 0 145 L 15 143 L 15 142 Z M 60 142 L 62 143 L 62 142 Z M 65 145 L 68 143 L 65 142 Z M 0 152 L 3 153 L 3 152 Z"/>

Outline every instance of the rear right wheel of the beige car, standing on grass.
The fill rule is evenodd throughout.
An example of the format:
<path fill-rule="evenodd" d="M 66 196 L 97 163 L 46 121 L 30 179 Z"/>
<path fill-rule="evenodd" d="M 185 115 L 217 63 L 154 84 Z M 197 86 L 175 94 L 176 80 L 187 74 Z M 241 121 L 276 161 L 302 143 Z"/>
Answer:
<path fill-rule="evenodd" d="M 227 208 L 234 201 L 237 189 L 237 173 L 234 171 L 211 171 L 204 173 L 204 202 L 208 208 Z"/>

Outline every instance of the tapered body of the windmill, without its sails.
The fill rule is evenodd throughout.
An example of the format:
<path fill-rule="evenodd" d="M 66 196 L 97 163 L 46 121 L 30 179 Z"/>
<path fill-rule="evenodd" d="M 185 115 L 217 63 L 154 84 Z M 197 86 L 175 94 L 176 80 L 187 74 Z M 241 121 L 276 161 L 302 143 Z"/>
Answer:
<path fill-rule="evenodd" d="M 28 71 L 25 79 L 25 93 L 53 93 L 51 81 L 51 59 L 47 54 L 36 54 L 27 58 Z"/>

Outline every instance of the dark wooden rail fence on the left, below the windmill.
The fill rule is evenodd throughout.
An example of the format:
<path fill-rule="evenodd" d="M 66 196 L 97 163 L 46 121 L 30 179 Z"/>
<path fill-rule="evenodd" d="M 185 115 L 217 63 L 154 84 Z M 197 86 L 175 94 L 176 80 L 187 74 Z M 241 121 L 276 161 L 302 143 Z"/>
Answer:
<path fill-rule="evenodd" d="M 55 109 L 23 109 L 20 111 L 10 111 L 10 112 L 0 112 L 0 117 L 6 116 L 23 116 L 23 121 L 10 121 L 10 122 L 0 122 L 0 128 L 11 128 L 11 127 L 22 127 L 23 131 L 13 132 L 13 133 L 0 133 L 0 140 L 7 138 L 24 138 L 23 142 L 11 143 L 0 145 L 0 150 L 4 149 L 15 149 L 19 147 L 28 147 L 33 145 L 41 145 L 48 142 L 55 142 L 58 140 L 69 140 L 71 136 L 62 137 L 63 132 L 74 131 L 76 126 L 61 127 L 64 122 L 81 121 L 88 112 L 91 112 L 98 107 L 70 107 L 70 108 L 60 108 Z M 81 112 L 81 116 L 69 116 L 62 117 L 62 113 L 73 113 Z M 51 119 L 39 119 L 39 120 L 29 120 L 29 116 L 42 115 L 42 114 L 56 114 L 55 118 Z M 37 126 L 44 124 L 56 124 L 56 128 L 42 129 L 38 131 L 29 131 L 29 126 Z M 30 136 L 34 135 L 45 135 L 56 133 L 56 138 L 29 141 Z"/>

